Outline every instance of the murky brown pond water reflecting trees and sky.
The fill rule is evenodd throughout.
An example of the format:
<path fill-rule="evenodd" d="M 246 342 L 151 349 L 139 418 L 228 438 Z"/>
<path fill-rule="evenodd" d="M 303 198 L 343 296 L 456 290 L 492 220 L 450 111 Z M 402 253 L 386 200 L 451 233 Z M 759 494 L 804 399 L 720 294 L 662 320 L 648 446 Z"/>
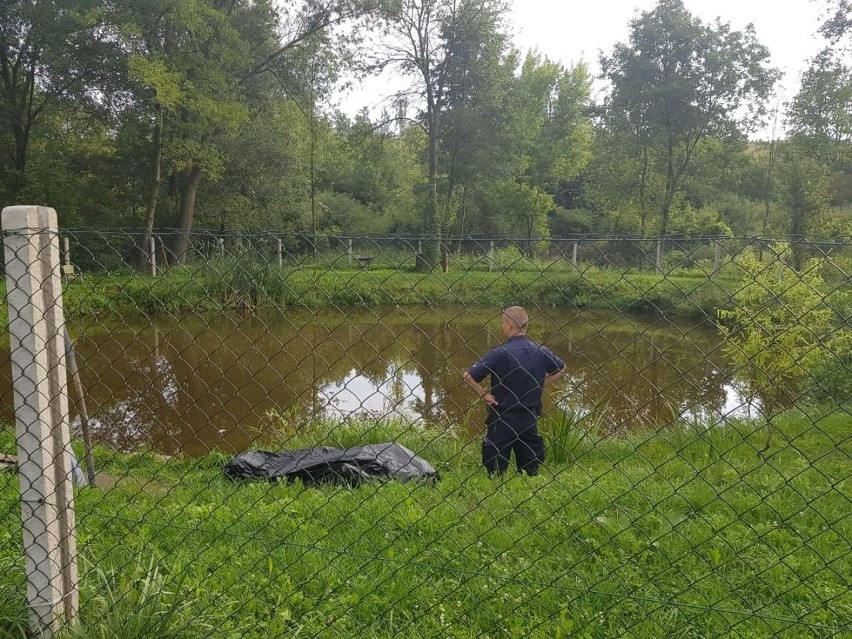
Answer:
<path fill-rule="evenodd" d="M 499 309 L 191 315 L 153 323 L 72 324 L 96 438 L 116 450 L 240 451 L 284 414 L 397 418 L 474 436 L 484 407 L 462 381 L 502 341 Z M 722 340 L 709 325 L 545 309 L 530 335 L 567 363 L 556 404 L 597 407 L 606 428 L 748 416 Z M 13 419 L 8 351 L 0 418 Z M 79 426 L 79 418 L 74 419 Z"/>

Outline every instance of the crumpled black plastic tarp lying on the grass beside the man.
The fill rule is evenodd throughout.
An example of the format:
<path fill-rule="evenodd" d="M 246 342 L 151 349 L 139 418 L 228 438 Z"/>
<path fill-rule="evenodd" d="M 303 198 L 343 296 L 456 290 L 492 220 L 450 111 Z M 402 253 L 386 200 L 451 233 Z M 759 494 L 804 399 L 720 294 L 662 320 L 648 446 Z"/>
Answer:
<path fill-rule="evenodd" d="M 315 483 L 360 484 L 364 481 L 438 479 L 422 457 L 394 442 L 352 448 L 305 448 L 240 453 L 225 465 L 231 479 L 301 479 Z"/>

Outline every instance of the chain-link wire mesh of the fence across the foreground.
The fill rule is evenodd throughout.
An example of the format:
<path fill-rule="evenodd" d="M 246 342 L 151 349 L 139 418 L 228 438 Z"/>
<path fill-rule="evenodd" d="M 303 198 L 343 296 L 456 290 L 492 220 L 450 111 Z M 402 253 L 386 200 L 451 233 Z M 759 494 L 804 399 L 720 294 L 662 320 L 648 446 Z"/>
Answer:
<path fill-rule="evenodd" d="M 56 239 L 68 636 L 850 636 L 848 238 Z M 566 371 L 536 476 L 485 472 L 463 380 L 515 305 Z M 0 635 L 20 636 L 8 337 L 0 360 Z M 385 442 L 439 478 L 223 473 Z"/>

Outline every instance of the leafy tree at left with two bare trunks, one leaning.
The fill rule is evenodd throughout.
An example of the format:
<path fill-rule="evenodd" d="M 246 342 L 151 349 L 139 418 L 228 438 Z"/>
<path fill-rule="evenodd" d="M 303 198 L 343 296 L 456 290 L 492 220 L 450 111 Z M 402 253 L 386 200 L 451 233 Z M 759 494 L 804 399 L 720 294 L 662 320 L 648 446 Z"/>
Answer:
<path fill-rule="evenodd" d="M 207 0 L 128 0 L 115 6 L 111 19 L 124 51 L 123 90 L 130 98 L 122 120 L 130 130 L 147 130 L 148 147 L 136 158 L 149 172 L 140 263 L 163 173 L 177 196 L 177 220 L 168 225 L 183 231 L 173 254 L 179 262 L 185 258 L 202 177 L 222 173 L 216 138 L 234 134 L 249 114 L 238 82 L 251 57 L 232 20 L 239 22 L 240 12 L 256 8 L 271 21 L 273 14 L 263 4 L 232 3 L 230 14 Z"/>

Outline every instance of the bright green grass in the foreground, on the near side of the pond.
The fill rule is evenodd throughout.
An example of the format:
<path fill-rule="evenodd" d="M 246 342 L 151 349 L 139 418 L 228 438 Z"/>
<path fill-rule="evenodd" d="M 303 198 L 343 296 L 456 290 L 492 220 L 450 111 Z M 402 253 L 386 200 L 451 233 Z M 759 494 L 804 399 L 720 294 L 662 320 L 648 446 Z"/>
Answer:
<path fill-rule="evenodd" d="M 99 450 L 118 481 L 77 494 L 70 636 L 843 636 L 852 417 L 774 425 L 763 456 L 760 425 L 732 423 L 583 440 L 503 480 L 478 467 L 479 442 L 402 424 L 281 419 L 264 442 L 396 439 L 442 476 L 358 488 L 232 483 L 221 454 Z M 23 614 L 16 499 L 0 474 L 0 636 Z"/>

